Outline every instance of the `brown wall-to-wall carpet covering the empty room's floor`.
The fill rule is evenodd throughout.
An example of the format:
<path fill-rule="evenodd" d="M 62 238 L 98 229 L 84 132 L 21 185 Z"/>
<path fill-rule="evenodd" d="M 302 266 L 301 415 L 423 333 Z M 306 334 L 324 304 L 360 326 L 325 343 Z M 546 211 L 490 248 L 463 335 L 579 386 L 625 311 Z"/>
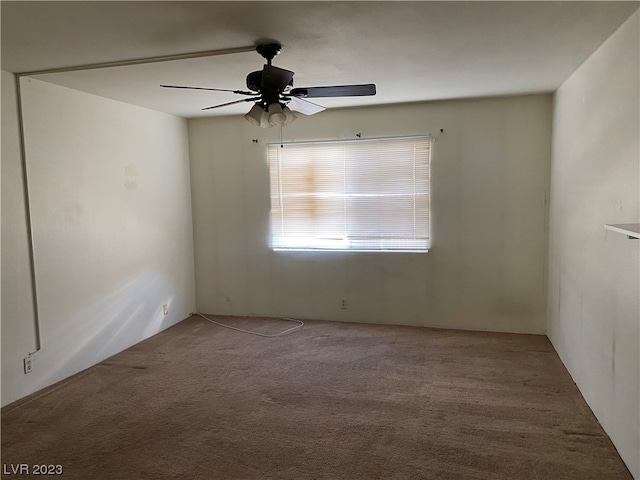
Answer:
<path fill-rule="evenodd" d="M 309 321 L 262 338 L 198 317 L 5 407 L 2 463 L 67 480 L 631 479 L 546 337 Z"/>

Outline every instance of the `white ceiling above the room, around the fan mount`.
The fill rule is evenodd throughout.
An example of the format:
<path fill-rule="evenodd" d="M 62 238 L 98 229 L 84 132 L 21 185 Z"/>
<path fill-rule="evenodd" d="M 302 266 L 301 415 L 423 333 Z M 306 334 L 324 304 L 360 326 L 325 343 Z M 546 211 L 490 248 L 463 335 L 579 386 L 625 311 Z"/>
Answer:
<path fill-rule="evenodd" d="M 634 2 L 9 2 L 2 69 L 29 72 L 276 40 L 273 63 L 294 86 L 375 83 L 374 97 L 314 99 L 326 107 L 554 91 L 636 9 Z M 255 52 L 40 76 L 184 117 L 244 113 Z"/>

